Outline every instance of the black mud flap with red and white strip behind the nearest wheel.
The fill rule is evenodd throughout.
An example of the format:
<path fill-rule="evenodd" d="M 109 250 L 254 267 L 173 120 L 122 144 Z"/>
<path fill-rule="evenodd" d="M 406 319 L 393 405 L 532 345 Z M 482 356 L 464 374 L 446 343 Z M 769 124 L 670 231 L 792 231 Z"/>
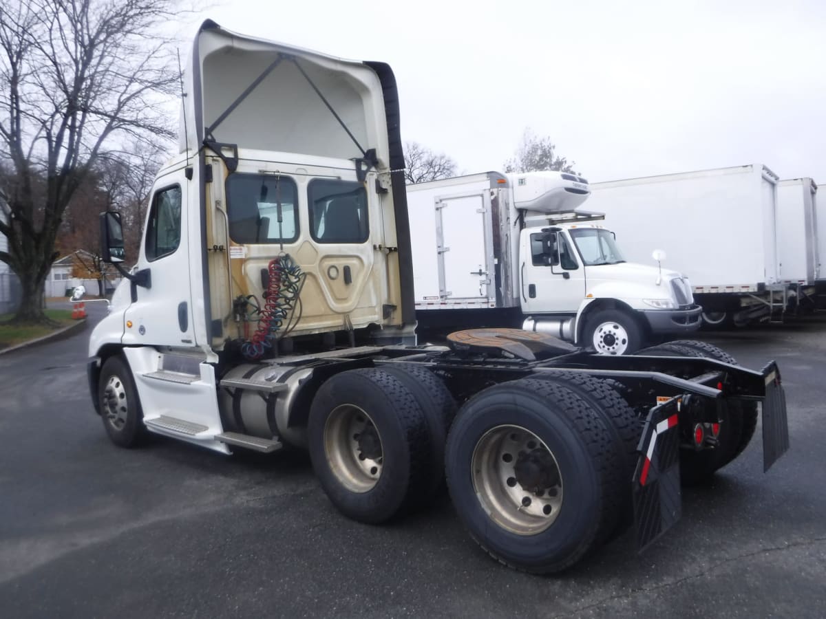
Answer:
<path fill-rule="evenodd" d="M 637 550 L 642 552 L 674 526 L 682 514 L 678 399 L 648 413 L 639 441 L 637 469 L 631 484 Z"/>

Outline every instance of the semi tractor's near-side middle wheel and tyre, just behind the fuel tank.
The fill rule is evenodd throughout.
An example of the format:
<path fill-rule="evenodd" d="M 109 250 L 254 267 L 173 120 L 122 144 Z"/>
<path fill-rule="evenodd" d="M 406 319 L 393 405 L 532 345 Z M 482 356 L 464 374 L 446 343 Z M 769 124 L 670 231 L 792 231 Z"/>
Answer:
<path fill-rule="evenodd" d="M 322 384 L 307 423 L 313 469 L 330 500 L 359 522 L 384 522 L 432 487 L 425 413 L 411 390 L 379 368 Z"/>

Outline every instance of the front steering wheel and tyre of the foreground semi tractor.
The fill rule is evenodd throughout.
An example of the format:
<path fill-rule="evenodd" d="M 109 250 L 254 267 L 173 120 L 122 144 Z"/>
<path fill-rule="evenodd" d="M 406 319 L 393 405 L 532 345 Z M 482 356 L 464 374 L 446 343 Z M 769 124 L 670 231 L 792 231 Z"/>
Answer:
<path fill-rule="evenodd" d="M 119 447 L 136 447 L 146 435 L 144 413 L 132 373 L 121 357 L 109 357 L 97 382 L 103 427 Z"/>

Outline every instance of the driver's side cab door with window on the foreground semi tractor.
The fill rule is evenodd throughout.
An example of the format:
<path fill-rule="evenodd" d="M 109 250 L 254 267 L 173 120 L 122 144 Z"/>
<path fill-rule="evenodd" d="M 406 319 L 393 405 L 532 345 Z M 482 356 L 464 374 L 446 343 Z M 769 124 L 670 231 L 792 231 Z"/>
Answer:
<path fill-rule="evenodd" d="M 188 239 L 188 181 L 183 168 L 155 179 L 137 270 L 151 285 L 132 286 L 123 343 L 192 346 L 192 291 Z"/>

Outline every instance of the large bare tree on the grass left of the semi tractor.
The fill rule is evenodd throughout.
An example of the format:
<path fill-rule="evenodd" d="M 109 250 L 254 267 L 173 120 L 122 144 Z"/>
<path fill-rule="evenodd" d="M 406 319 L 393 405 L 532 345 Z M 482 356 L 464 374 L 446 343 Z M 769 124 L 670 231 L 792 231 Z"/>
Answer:
<path fill-rule="evenodd" d="M 178 85 L 170 0 L 7 0 L 0 5 L 0 253 L 20 277 L 17 322 L 46 322 L 43 282 L 64 210 L 119 139 L 171 139 L 159 102 Z M 176 12 L 177 14 L 177 12 Z M 97 224 L 93 224 L 97 226 Z"/>

